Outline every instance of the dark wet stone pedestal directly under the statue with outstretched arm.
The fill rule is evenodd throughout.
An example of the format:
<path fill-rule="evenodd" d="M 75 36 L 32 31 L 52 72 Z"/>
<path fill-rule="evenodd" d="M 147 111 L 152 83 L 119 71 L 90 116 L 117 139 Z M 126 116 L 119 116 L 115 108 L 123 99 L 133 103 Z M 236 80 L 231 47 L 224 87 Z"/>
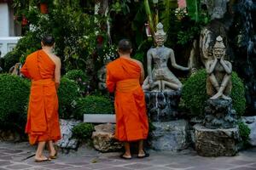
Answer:
<path fill-rule="evenodd" d="M 152 122 L 166 122 L 177 119 L 177 106 L 181 91 L 145 92 L 148 116 Z"/>

